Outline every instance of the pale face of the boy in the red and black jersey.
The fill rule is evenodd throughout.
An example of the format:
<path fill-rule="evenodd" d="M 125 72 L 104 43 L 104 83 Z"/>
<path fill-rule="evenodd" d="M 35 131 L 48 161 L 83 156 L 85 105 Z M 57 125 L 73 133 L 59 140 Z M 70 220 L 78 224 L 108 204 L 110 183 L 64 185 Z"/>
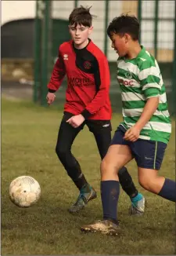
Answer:
<path fill-rule="evenodd" d="M 85 27 L 82 24 L 77 24 L 77 27 L 73 25 L 69 26 L 69 31 L 72 40 L 76 45 L 81 45 L 86 40 L 88 40 L 88 36 L 92 33 L 93 27 Z"/>

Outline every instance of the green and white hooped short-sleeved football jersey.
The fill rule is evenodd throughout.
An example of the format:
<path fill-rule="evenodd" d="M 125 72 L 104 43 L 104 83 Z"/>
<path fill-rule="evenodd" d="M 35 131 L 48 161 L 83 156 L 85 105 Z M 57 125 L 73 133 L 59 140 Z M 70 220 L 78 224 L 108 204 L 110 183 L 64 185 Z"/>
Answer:
<path fill-rule="evenodd" d="M 142 114 L 146 100 L 149 97 L 159 97 L 158 108 L 141 130 L 139 138 L 167 143 L 171 136 L 171 119 L 165 86 L 155 58 L 143 46 L 135 59 L 119 57 L 117 80 L 121 89 L 124 119 L 120 124 L 126 130 L 134 126 Z"/>

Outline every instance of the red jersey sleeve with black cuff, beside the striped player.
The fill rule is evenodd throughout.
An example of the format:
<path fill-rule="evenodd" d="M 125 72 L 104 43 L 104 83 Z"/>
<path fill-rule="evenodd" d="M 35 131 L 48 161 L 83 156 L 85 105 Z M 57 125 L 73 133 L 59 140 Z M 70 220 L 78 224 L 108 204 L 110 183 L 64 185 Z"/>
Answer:
<path fill-rule="evenodd" d="M 99 83 L 99 90 L 93 100 L 86 106 L 84 111 L 81 112 L 85 119 L 98 112 L 99 109 L 106 104 L 110 93 L 110 69 L 108 61 L 106 57 L 97 58 L 97 60 L 99 67 L 97 74 L 95 74 L 95 79 L 99 80 L 97 81 Z"/>

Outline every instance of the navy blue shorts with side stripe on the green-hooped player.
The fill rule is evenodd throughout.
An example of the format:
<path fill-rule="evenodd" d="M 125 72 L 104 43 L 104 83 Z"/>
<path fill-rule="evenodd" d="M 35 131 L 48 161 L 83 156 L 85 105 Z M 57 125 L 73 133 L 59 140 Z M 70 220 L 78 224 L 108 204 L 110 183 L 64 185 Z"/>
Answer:
<path fill-rule="evenodd" d="M 128 145 L 131 149 L 131 154 L 135 158 L 138 167 L 160 170 L 167 144 L 160 141 L 146 141 L 142 139 L 138 139 L 135 142 L 125 141 L 123 138 L 124 133 L 125 130 L 118 127 L 118 129 L 114 133 L 111 145 Z"/>

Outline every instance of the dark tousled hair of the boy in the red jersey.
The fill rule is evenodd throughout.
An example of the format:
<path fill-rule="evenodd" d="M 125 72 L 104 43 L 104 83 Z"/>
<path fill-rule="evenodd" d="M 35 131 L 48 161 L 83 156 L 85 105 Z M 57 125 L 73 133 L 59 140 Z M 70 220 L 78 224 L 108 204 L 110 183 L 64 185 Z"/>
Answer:
<path fill-rule="evenodd" d="M 92 7 L 92 6 L 91 6 Z M 77 24 L 83 25 L 85 27 L 91 27 L 92 26 L 92 18 L 95 17 L 95 15 L 92 15 L 90 13 L 91 7 L 77 7 L 75 8 L 72 13 L 70 13 L 69 16 L 69 24 L 75 25 L 77 27 Z"/>

